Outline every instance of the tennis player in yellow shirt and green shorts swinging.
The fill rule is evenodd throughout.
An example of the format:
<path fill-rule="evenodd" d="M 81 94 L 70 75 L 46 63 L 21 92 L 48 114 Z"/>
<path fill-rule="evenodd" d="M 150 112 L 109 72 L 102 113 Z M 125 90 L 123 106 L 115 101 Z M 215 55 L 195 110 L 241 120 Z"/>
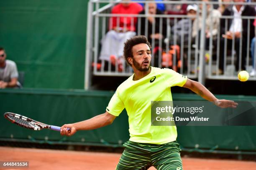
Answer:
<path fill-rule="evenodd" d="M 172 101 L 171 87 L 186 87 L 219 107 L 238 105 L 218 100 L 199 82 L 189 80 L 171 69 L 151 67 L 151 45 L 145 36 L 125 42 L 124 57 L 134 74 L 117 88 L 106 112 L 89 120 L 63 125 L 61 135 L 71 136 L 78 130 L 92 130 L 110 125 L 125 108 L 129 117 L 130 139 L 116 170 L 182 170 L 176 126 L 151 126 L 151 101 Z M 71 129 L 68 133 L 67 128 Z"/>

